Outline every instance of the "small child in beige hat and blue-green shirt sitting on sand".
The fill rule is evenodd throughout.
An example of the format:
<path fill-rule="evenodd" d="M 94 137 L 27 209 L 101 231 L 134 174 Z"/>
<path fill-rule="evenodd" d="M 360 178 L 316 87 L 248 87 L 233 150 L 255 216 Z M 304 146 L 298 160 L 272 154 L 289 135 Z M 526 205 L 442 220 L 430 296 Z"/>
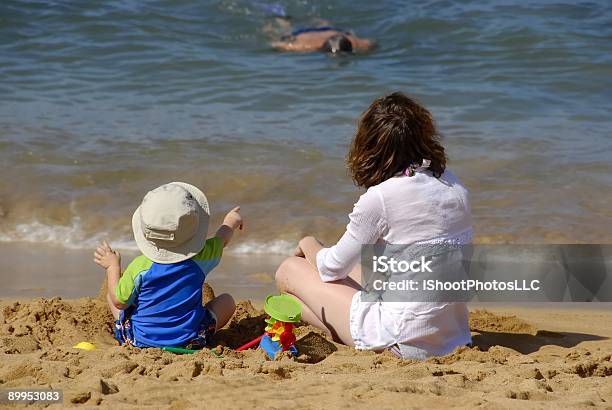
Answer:
<path fill-rule="evenodd" d="M 208 200 L 198 188 L 165 184 L 147 193 L 134 212 L 132 228 L 142 255 L 123 275 L 119 252 L 106 242 L 95 251 L 95 263 L 106 269 L 107 300 L 119 343 L 199 349 L 234 314 L 228 294 L 202 306 L 202 286 L 234 230 L 242 230 L 240 207 L 206 239 L 209 216 Z"/>

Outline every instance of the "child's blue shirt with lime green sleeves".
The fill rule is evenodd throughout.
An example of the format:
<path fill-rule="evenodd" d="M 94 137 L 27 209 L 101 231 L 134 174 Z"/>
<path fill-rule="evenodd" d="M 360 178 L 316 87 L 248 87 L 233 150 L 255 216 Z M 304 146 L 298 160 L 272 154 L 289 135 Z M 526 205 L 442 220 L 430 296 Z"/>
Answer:
<path fill-rule="evenodd" d="M 136 346 L 184 346 L 197 338 L 206 312 L 202 286 L 222 253 L 223 240 L 211 238 L 183 262 L 161 264 L 141 255 L 128 265 L 115 296 L 130 306 Z"/>

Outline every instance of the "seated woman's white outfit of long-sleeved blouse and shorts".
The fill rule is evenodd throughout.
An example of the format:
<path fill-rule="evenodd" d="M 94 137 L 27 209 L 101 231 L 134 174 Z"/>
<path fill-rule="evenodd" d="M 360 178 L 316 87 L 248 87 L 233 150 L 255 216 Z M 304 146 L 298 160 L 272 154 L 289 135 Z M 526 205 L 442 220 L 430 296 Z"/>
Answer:
<path fill-rule="evenodd" d="M 468 191 L 449 170 L 441 178 L 422 170 L 370 187 L 349 215 L 338 243 L 317 253 L 325 282 L 344 279 L 375 243 L 470 243 Z M 465 303 L 362 302 L 351 304 L 351 335 L 358 349 L 399 345 L 404 356 L 444 355 L 471 342 Z"/>

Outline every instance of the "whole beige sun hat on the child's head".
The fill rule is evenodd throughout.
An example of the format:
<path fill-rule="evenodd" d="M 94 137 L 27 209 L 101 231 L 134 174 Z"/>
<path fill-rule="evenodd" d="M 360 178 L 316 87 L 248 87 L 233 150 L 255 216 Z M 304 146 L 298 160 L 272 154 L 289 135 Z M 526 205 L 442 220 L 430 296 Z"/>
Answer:
<path fill-rule="evenodd" d="M 171 182 L 149 191 L 132 216 L 134 239 L 153 262 L 176 263 L 195 256 L 206 243 L 210 209 L 202 191 Z"/>

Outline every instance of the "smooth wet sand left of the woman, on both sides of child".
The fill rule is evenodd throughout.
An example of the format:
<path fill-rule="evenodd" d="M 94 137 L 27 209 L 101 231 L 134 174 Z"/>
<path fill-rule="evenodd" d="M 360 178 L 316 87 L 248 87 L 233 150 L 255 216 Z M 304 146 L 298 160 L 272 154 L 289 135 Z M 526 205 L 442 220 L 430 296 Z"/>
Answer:
<path fill-rule="evenodd" d="M 92 261 L 93 249 L 48 244 L 0 244 L 0 298 L 78 298 L 98 294 L 104 270 Z M 123 269 L 137 254 L 122 253 Z M 206 279 L 237 299 L 264 300 L 275 291 L 274 271 L 283 255 L 235 256 L 226 252 Z"/>

